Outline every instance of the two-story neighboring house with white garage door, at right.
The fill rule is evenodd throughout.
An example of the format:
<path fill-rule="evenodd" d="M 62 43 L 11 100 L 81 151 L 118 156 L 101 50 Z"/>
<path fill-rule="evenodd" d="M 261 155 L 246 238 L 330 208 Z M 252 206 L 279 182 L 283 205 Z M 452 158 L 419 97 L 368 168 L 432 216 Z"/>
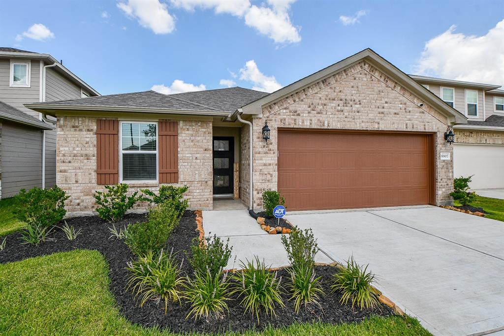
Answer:
<path fill-rule="evenodd" d="M 454 176 L 474 175 L 473 189 L 504 188 L 504 90 L 500 85 L 411 75 L 455 107 L 467 124 L 455 126 Z"/>

